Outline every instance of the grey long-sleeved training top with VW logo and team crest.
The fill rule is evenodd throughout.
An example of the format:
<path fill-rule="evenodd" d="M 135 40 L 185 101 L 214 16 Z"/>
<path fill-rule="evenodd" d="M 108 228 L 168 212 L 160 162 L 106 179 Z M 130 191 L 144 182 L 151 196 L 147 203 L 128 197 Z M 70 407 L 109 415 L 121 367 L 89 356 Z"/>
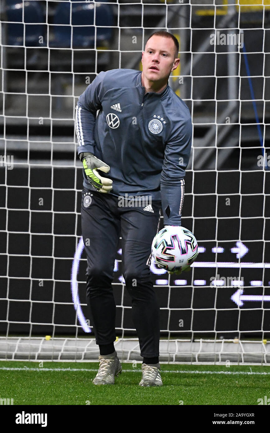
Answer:
<path fill-rule="evenodd" d="M 164 225 L 181 225 L 192 123 L 169 85 L 145 93 L 140 71 L 100 72 L 79 97 L 76 133 L 78 153 L 91 152 L 110 166 L 102 174 L 113 180 L 109 194 L 161 200 Z M 95 190 L 83 173 L 84 187 Z"/>

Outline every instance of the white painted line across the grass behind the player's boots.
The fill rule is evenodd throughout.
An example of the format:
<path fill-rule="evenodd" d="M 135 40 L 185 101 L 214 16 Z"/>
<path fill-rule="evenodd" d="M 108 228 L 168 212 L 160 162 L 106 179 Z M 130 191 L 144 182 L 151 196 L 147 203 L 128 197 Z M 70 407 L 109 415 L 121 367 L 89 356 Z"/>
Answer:
<path fill-rule="evenodd" d="M 97 368 L 16 368 L 16 367 L 0 367 L 0 370 L 6 371 L 26 371 L 26 372 L 97 372 Z M 141 370 L 130 369 L 122 370 L 124 373 L 138 373 Z M 215 371 L 200 371 L 200 370 L 161 370 L 161 373 L 191 373 L 203 375 L 270 375 L 270 372 L 215 372 Z"/>

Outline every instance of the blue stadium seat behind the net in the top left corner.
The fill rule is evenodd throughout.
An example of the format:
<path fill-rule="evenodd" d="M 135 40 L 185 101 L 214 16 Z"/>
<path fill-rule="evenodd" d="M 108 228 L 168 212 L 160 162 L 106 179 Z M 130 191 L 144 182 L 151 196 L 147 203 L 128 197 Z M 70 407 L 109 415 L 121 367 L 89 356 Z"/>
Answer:
<path fill-rule="evenodd" d="M 6 0 L 6 16 L 7 21 L 11 21 L 11 23 L 7 24 L 7 44 L 23 45 L 23 1 Z M 15 23 L 12 23 L 12 21 L 15 21 Z M 25 26 L 25 45 L 28 47 L 44 46 L 46 34 L 45 16 L 43 16 L 39 2 L 24 2 L 24 22 L 29 23 Z M 39 36 L 43 36 L 43 43 L 40 43 Z"/>

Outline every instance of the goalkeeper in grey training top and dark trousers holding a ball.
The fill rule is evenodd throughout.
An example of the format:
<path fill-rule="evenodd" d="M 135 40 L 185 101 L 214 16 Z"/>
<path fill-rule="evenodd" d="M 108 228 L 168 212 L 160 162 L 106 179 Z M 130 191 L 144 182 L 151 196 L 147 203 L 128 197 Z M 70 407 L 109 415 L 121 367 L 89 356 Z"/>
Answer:
<path fill-rule="evenodd" d="M 142 53 L 142 72 L 100 72 L 77 102 L 87 305 L 100 349 L 95 385 L 114 383 L 121 372 L 112 289 L 120 233 L 122 273 L 143 358 L 139 385 L 162 385 L 159 307 L 149 266 L 161 208 L 164 225 L 181 225 L 192 123 L 188 107 L 168 85 L 178 51 L 172 34 L 155 32 Z M 131 196 L 132 207 L 124 200 Z"/>

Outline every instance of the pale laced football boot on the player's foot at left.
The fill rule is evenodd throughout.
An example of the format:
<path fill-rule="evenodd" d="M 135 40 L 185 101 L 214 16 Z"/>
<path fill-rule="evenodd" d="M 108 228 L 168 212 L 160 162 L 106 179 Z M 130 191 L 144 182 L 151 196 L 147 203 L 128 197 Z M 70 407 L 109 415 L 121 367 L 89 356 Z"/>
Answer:
<path fill-rule="evenodd" d="M 96 377 L 93 379 L 93 385 L 113 385 L 114 378 L 122 373 L 122 366 L 117 358 L 117 353 L 115 352 L 109 359 L 99 356 L 99 361 L 100 366 Z"/>

